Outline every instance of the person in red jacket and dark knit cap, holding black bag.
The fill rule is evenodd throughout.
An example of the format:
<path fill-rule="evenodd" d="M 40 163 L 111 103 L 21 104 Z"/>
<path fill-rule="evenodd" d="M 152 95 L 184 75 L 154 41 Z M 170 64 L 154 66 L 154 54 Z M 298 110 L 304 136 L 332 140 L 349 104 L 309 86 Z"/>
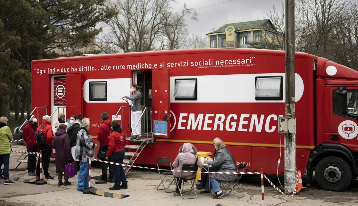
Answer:
<path fill-rule="evenodd" d="M 111 134 L 111 120 L 109 120 L 109 116 L 107 112 L 103 112 L 101 114 L 102 125 L 97 131 L 97 142 L 100 142 L 100 148 L 98 149 L 97 158 L 106 161 L 106 153 L 108 150 L 108 142 Z M 111 162 L 111 159 L 109 160 Z M 107 166 L 110 168 L 110 175 L 107 179 Z M 99 181 L 96 181 L 96 184 L 104 184 L 107 182 L 113 182 L 114 172 L 112 164 L 107 164 L 101 162 L 102 167 L 102 175 Z"/>

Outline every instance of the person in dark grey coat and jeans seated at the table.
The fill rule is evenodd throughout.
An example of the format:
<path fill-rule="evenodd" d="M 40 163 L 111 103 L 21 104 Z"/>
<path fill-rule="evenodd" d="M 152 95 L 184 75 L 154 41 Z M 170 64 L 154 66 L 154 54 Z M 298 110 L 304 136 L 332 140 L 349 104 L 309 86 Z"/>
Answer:
<path fill-rule="evenodd" d="M 222 140 L 218 140 L 215 143 L 215 160 L 208 158 L 207 164 L 210 164 L 214 168 L 217 168 L 215 171 L 210 170 L 210 172 L 236 172 L 236 163 L 230 151 L 226 148 L 226 145 Z M 210 186 L 213 188 L 216 195 L 213 197 L 215 199 L 224 196 L 224 192 L 221 190 L 218 181 L 232 181 L 235 178 L 235 174 L 209 174 Z M 205 190 L 199 192 L 200 194 L 210 194 L 209 184 L 205 185 Z"/>

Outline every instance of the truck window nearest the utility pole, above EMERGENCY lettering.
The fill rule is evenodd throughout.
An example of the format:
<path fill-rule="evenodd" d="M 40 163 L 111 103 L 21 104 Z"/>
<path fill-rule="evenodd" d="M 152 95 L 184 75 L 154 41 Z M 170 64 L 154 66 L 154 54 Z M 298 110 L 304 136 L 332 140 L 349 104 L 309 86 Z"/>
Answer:
<path fill-rule="evenodd" d="M 283 100 L 282 76 L 256 77 L 256 100 Z"/>

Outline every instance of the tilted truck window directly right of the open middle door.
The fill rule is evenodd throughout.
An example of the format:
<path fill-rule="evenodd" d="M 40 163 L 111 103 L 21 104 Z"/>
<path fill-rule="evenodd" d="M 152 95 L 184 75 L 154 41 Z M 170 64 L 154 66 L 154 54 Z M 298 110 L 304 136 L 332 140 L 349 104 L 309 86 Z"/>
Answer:
<path fill-rule="evenodd" d="M 175 79 L 175 100 L 198 100 L 198 79 Z"/>

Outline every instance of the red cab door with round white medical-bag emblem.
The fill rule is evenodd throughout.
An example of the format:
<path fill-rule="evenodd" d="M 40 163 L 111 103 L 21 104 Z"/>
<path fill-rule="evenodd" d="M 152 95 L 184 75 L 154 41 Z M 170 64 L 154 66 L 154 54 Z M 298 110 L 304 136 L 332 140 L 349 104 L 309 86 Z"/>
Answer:
<path fill-rule="evenodd" d="M 332 87 L 330 94 L 330 142 L 357 145 L 358 87 Z"/>

